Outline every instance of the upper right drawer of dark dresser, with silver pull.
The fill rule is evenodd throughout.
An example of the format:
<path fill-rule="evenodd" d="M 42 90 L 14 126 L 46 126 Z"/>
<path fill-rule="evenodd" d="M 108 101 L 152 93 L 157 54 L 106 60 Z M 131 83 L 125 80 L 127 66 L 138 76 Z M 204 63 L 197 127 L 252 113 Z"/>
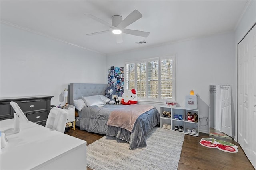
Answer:
<path fill-rule="evenodd" d="M 18 103 L 20 109 L 23 112 L 30 112 L 30 111 L 37 111 L 37 110 L 47 110 L 47 101 L 40 100 L 40 101 L 26 101 Z"/>

